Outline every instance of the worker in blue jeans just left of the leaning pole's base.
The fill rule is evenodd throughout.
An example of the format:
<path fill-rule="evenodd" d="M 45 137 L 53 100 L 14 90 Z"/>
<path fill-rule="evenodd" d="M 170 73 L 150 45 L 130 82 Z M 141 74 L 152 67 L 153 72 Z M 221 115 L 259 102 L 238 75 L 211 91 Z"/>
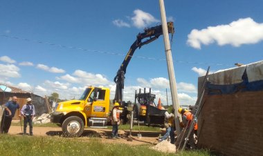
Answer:
<path fill-rule="evenodd" d="M 171 113 L 168 113 L 167 110 L 165 112 L 165 128 L 166 128 L 166 133 L 163 135 L 161 138 L 161 142 L 167 137 L 170 136 L 170 143 L 174 144 L 174 108 L 172 108 Z"/>

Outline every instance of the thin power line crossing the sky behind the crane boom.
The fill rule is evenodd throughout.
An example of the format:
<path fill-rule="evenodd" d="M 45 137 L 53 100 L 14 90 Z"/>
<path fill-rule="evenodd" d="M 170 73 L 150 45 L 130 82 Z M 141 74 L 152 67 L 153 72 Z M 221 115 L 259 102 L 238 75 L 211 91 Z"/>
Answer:
<path fill-rule="evenodd" d="M 6 37 L 6 38 L 10 38 L 10 39 L 19 39 L 22 41 L 28 41 L 28 42 L 35 42 L 35 43 L 41 43 L 41 44 L 46 44 L 48 46 L 58 46 L 60 48 L 66 48 L 66 49 L 75 49 L 75 50 L 82 50 L 85 52 L 95 52 L 95 53 L 100 53 L 100 54 L 105 54 L 105 55 L 117 55 L 117 56 L 126 56 L 125 54 L 121 54 L 118 52 L 107 52 L 107 51 L 101 51 L 101 50 L 90 50 L 87 48 L 79 48 L 79 47 L 75 47 L 75 46 L 64 46 L 61 44 L 57 44 L 57 43 L 50 43 L 47 41 L 40 41 L 40 40 L 32 40 L 32 39 L 24 39 L 21 37 L 12 37 L 9 35 L 0 35 L 0 37 Z M 131 57 L 135 57 L 137 59 L 148 59 L 148 60 L 152 60 L 152 61 L 166 61 L 166 59 L 157 59 L 155 57 L 144 57 L 144 56 L 131 56 Z M 168 60 L 169 61 L 169 60 Z M 199 64 L 199 65 L 207 65 L 207 66 L 233 66 L 233 64 L 214 64 L 214 63 L 204 63 L 204 62 L 194 62 L 194 61 L 174 61 L 174 63 L 179 63 L 179 64 Z"/>

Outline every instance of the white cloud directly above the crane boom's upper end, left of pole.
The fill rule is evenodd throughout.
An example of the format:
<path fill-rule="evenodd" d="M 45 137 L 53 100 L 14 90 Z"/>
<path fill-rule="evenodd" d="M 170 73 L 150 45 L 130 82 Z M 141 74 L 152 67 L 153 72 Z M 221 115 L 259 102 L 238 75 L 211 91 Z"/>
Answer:
<path fill-rule="evenodd" d="M 149 14 L 147 12 L 143 12 L 142 10 L 134 10 L 134 17 L 131 17 L 131 20 L 133 22 L 133 25 L 136 28 L 145 28 L 149 26 L 152 23 L 159 22 L 157 19 L 155 19 L 152 14 Z"/>

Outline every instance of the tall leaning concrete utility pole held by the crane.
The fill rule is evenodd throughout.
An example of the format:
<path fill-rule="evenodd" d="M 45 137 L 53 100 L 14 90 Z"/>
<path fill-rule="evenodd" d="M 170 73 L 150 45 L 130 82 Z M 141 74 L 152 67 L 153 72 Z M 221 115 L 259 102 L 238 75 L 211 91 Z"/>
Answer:
<path fill-rule="evenodd" d="M 163 0 L 159 0 L 160 3 L 160 9 L 161 9 L 161 19 L 162 19 L 162 25 L 163 25 L 163 40 L 165 43 L 165 55 L 166 55 L 166 61 L 167 61 L 167 68 L 168 68 L 168 75 L 170 80 L 170 89 L 171 89 L 171 95 L 172 95 L 172 105 L 174 106 L 174 122 L 176 127 L 177 136 L 181 133 L 180 128 L 180 118 L 181 115 L 177 112 L 179 108 L 179 101 L 177 96 L 177 89 L 176 89 L 176 81 L 174 76 L 174 64 L 172 62 L 172 50 L 170 46 L 169 41 L 169 35 L 167 30 L 167 21 L 166 21 L 166 15 L 165 15 L 165 7 Z"/>

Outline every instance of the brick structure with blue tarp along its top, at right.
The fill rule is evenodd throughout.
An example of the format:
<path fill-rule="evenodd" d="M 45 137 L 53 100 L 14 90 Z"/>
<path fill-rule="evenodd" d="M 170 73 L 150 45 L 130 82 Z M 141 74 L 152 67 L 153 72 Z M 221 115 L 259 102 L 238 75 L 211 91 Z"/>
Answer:
<path fill-rule="evenodd" d="M 199 147 L 222 155 L 262 155 L 263 61 L 208 75 L 202 102 Z"/>

